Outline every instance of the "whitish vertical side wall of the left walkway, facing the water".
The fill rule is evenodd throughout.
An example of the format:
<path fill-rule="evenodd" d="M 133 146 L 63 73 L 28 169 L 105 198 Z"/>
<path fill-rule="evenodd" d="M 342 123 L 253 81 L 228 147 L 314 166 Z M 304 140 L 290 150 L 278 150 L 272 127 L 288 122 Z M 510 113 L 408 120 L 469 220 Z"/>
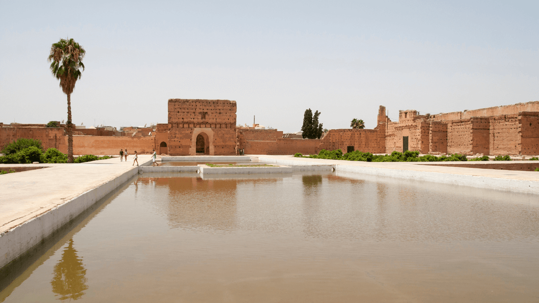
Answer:
<path fill-rule="evenodd" d="M 149 163 L 151 163 L 151 160 L 142 165 L 148 165 Z M 137 174 L 139 174 L 139 167 L 130 168 L 127 172 L 118 175 L 114 179 L 4 232 L 0 235 L 0 269 L 24 255 L 24 253 Z"/>

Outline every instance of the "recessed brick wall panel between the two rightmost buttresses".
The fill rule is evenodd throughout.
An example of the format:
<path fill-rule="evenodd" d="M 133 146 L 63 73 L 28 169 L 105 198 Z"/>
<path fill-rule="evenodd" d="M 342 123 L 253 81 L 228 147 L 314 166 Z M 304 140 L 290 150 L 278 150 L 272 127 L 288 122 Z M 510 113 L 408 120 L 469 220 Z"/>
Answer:
<path fill-rule="evenodd" d="M 490 154 L 520 154 L 521 137 L 518 114 L 494 116 L 489 120 Z"/>

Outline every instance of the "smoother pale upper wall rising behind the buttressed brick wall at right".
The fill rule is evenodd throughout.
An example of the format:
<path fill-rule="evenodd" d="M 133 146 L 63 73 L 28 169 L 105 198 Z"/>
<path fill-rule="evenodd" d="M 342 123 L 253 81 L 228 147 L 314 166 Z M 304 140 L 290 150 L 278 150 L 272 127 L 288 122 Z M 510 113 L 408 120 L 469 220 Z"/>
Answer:
<path fill-rule="evenodd" d="M 431 115 L 435 121 L 469 119 L 472 117 L 491 117 L 501 115 L 514 115 L 521 111 L 539 111 L 539 101 L 527 103 L 516 103 L 512 105 L 503 105 L 489 108 L 481 108 L 465 111 L 447 112 L 444 114 Z"/>

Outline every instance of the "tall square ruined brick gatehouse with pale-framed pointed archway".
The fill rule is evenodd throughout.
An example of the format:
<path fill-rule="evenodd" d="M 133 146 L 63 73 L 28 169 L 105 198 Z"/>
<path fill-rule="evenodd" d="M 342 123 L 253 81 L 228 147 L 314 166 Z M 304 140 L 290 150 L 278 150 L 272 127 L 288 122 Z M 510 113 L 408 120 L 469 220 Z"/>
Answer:
<path fill-rule="evenodd" d="M 196 154 L 196 138 L 204 136 L 205 153 L 236 154 L 236 101 L 168 101 L 169 154 Z"/>

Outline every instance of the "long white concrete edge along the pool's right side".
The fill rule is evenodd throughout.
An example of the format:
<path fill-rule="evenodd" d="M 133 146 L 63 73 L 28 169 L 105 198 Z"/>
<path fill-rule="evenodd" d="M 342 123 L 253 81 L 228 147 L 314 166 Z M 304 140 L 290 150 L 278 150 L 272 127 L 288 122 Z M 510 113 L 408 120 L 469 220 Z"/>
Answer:
<path fill-rule="evenodd" d="M 260 161 L 282 165 L 322 165 L 327 163 L 304 162 L 294 159 L 275 159 L 259 156 Z M 295 163 L 295 164 L 294 164 Z M 452 172 L 428 172 L 414 171 L 384 167 L 370 167 L 358 165 L 335 164 L 336 171 L 353 172 L 360 174 L 377 175 L 406 180 L 428 181 L 458 186 L 469 186 L 497 191 L 518 192 L 527 194 L 539 194 L 539 183 L 530 180 L 518 180 L 508 178 L 493 178 L 482 175 L 458 174 Z"/>

